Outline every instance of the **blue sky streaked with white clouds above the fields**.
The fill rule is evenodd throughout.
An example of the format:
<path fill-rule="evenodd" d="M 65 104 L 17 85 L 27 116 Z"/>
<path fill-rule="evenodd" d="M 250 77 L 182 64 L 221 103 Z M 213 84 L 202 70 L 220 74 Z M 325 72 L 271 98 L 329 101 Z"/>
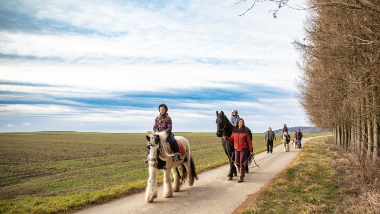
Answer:
<path fill-rule="evenodd" d="M 306 12 L 253 0 L 0 1 L 0 132 L 254 133 L 310 126 L 295 94 Z M 303 5 L 292 0 L 290 6 Z"/>

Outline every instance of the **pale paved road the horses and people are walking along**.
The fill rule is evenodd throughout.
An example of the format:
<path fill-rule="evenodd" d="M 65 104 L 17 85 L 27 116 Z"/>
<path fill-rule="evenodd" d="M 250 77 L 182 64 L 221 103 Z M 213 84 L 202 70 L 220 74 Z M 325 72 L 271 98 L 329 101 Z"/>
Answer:
<path fill-rule="evenodd" d="M 307 140 L 302 140 L 302 146 Z M 254 156 L 249 173 L 244 182 L 237 183 L 238 177 L 226 180 L 229 165 L 199 174 L 199 180 L 192 187 L 185 186 L 171 198 L 163 198 L 162 186 L 153 203 L 144 200 L 144 193 L 127 196 L 106 204 L 94 206 L 78 214 L 230 214 L 261 187 L 281 172 L 300 152 L 290 144 L 290 151 L 284 153 L 281 144 L 273 148 L 273 153 L 262 152 Z M 196 160 L 195 160 L 196 163 Z"/>

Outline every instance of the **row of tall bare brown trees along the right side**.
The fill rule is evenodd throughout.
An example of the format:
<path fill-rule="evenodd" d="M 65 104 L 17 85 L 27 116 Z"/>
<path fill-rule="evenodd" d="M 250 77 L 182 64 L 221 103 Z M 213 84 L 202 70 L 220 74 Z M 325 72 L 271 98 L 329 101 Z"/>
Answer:
<path fill-rule="evenodd" d="M 298 98 L 308 119 L 361 158 L 380 157 L 380 0 L 309 0 Z"/>

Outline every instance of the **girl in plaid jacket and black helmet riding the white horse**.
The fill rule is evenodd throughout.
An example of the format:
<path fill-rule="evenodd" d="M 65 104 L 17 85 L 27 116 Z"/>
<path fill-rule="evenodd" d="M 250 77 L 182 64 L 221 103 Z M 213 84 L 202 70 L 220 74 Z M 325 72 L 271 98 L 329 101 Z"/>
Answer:
<path fill-rule="evenodd" d="M 169 144 L 173 149 L 173 153 L 177 154 L 177 161 L 183 160 L 181 153 L 179 152 L 178 143 L 174 139 L 173 134 L 171 133 L 172 122 L 168 114 L 168 106 L 165 103 L 162 103 L 158 106 L 158 110 L 160 111 L 160 113 L 154 121 L 153 132 L 166 131 L 168 133 Z M 147 163 L 148 160 L 145 160 L 145 162 Z"/>

